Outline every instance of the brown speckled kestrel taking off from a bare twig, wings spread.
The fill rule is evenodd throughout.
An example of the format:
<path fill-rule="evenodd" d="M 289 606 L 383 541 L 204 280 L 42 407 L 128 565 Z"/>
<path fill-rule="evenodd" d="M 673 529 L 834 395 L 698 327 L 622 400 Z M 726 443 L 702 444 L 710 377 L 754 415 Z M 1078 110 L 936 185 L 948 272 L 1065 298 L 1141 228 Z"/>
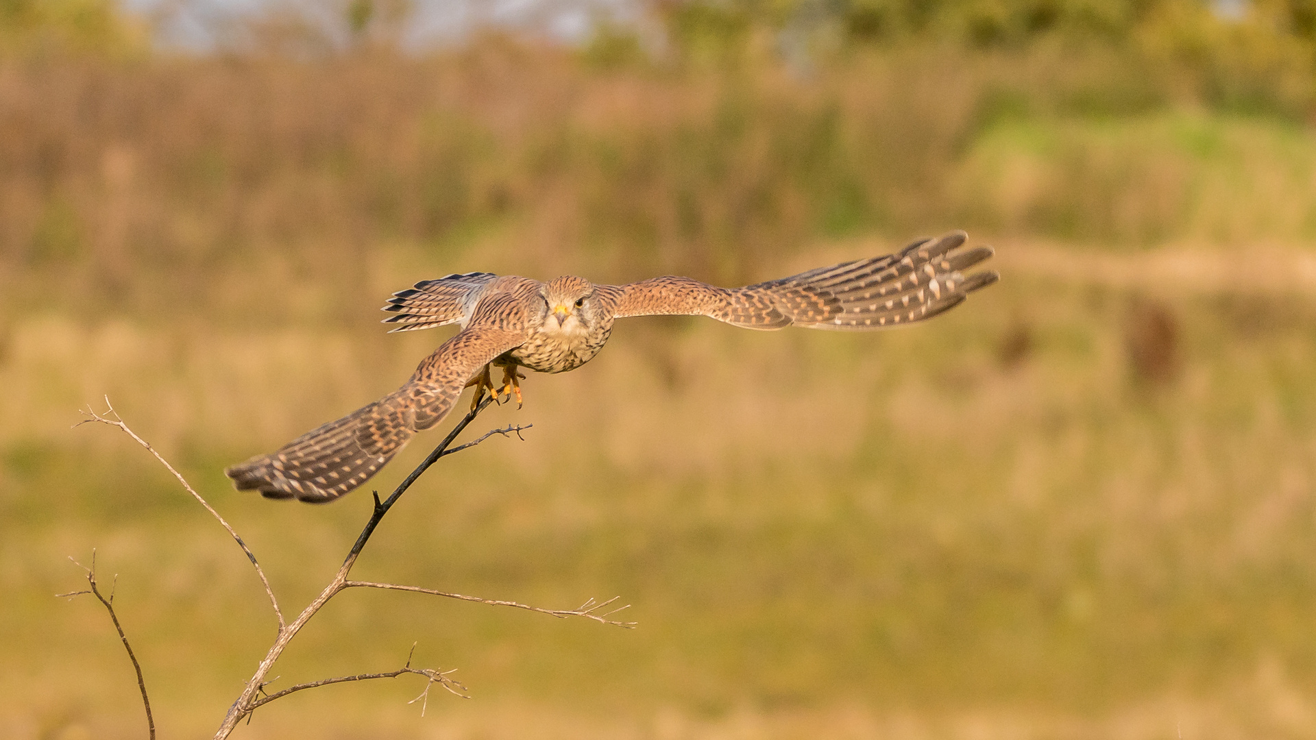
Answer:
<path fill-rule="evenodd" d="M 416 432 L 453 410 L 462 390 L 488 388 L 497 400 L 521 399 L 519 367 L 565 373 L 590 359 L 625 316 L 711 316 L 749 329 L 869 330 L 930 319 L 999 278 L 962 271 L 992 255 L 959 248 L 963 232 L 920 240 L 895 254 L 820 267 L 742 288 L 663 277 L 596 286 L 565 275 L 546 283 L 490 273 L 447 275 L 393 294 L 383 309 L 393 332 L 461 324 L 462 330 L 421 361 L 403 387 L 347 416 L 317 427 L 270 454 L 224 473 L 238 490 L 321 503 L 361 486 Z M 490 366 L 503 370 L 495 387 Z"/>

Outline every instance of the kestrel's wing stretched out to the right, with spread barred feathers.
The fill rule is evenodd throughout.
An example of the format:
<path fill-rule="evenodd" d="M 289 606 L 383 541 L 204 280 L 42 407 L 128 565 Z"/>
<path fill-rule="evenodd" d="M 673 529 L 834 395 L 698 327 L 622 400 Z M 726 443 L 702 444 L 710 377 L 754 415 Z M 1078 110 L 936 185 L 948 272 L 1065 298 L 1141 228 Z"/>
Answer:
<path fill-rule="evenodd" d="M 820 267 L 742 288 L 665 277 L 621 286 L 615 315 L 711 316 L 750 329 L 791 324 L 866 330 L 930 319 L 998 280 L 994 270 L 963 270 L 994 254 L 990 246 L 959 250 L 967 236 L 951 232 L 895 254 Z"/>

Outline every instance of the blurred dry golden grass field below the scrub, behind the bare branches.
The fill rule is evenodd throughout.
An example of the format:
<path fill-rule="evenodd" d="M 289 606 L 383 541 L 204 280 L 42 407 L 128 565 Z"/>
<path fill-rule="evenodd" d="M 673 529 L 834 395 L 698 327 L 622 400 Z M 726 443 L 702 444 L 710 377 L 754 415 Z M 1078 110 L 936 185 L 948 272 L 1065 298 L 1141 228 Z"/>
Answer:
<path fill-rule="evenodd" d="M 258 732 L 337 727 L 340 711 L 366 732 L 393 706 L 400 736 L 516 736 L 517 716 L 553 706 L 544 736 L 790 737 L 817 722 L 837 736 L 1173 737 L 1171 720 L 1200 737 L 1305 736 L 1292 712 L 1309 711 L 1316 606 L 1313 305 L 1221 290 L 1155 253 L 1019 253 L 1001 250 L 1011 279 L 994 292 L 907 332 L 636 320 L 590 366 L 532 378 L 525 410 L 487 420 L 533 421 L 529 441 L 436 470 L 366 575 L 554 607 L 622 594 L 640 629 L 351 595 L 288 656 L 290 681 L 387 669 L 420 640 L 462 668 L 474 703 L 422 722 L 387 714 L 409 687 L 340 690 L 271 707 Z M 1125 348 L 1134 295 L 1155 295 L 1182 337 L 1159 383 Z M 1005 361 L 1020 328 L 1029 349 Z M 95 545 L 121 574 L 163 727 L 213 723 L 270 623 L 222 533 L 117 435 L 63 429 L 72 408 L 111 392 L 295 603 L 336 568 L 366 499 L 271 504 L 218 469 L 374 398 L 437 341 L 378 330 L 18 324 L 4 416 L 46 431 L 7 442 L 3 581 L 24 594 L 5 616 L 7 690 L 26 697 L 12 727 L 100 736 L 136 719 L 103 615 L 49 596 L 76 581 L 67 554 Z M 1265 700 L 1224 702 L 1244 689 Z"/>

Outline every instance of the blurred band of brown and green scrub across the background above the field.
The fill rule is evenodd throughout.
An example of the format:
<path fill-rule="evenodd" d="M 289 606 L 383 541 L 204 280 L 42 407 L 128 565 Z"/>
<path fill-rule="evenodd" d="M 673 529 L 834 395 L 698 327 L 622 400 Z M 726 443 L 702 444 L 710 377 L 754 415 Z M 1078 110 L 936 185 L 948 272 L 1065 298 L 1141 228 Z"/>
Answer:
<path fill-rule="evenodd" d="M 357 43 L 188 55 L 146 54 L 109 3 L 5 0 L 0 263 L 178 307 L 275 245 L 313 271 L 512 233 L 521 270 L 734 283 L 817 238 L 951 225 L 1316 234 L 1296 3 L 658 3 L 658 42 L 424 53 L 386 5 L 343 4 Z"/>

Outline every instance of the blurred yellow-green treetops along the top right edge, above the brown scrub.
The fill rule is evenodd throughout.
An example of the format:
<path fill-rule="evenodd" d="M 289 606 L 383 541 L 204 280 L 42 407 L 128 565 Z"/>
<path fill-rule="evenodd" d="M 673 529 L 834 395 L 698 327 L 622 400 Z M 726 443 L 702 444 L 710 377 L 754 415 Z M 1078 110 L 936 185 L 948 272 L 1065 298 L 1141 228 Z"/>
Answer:
<path fill-rule="evenodd" d="M 1054 45 L 1078 68 L 1094 50 L 1115 53 L 1129 66 L 1107 67 L 1104 82 L 1136 91 L 1152 75 L 1162 103 L 1305 117 L 1316 91 L 1309 0 L 669 0 L 657 8 L 680 57 L 695 62 L 742 57 L 762 29 L 815 62 L 842 65 L 892 46 Z"/>

